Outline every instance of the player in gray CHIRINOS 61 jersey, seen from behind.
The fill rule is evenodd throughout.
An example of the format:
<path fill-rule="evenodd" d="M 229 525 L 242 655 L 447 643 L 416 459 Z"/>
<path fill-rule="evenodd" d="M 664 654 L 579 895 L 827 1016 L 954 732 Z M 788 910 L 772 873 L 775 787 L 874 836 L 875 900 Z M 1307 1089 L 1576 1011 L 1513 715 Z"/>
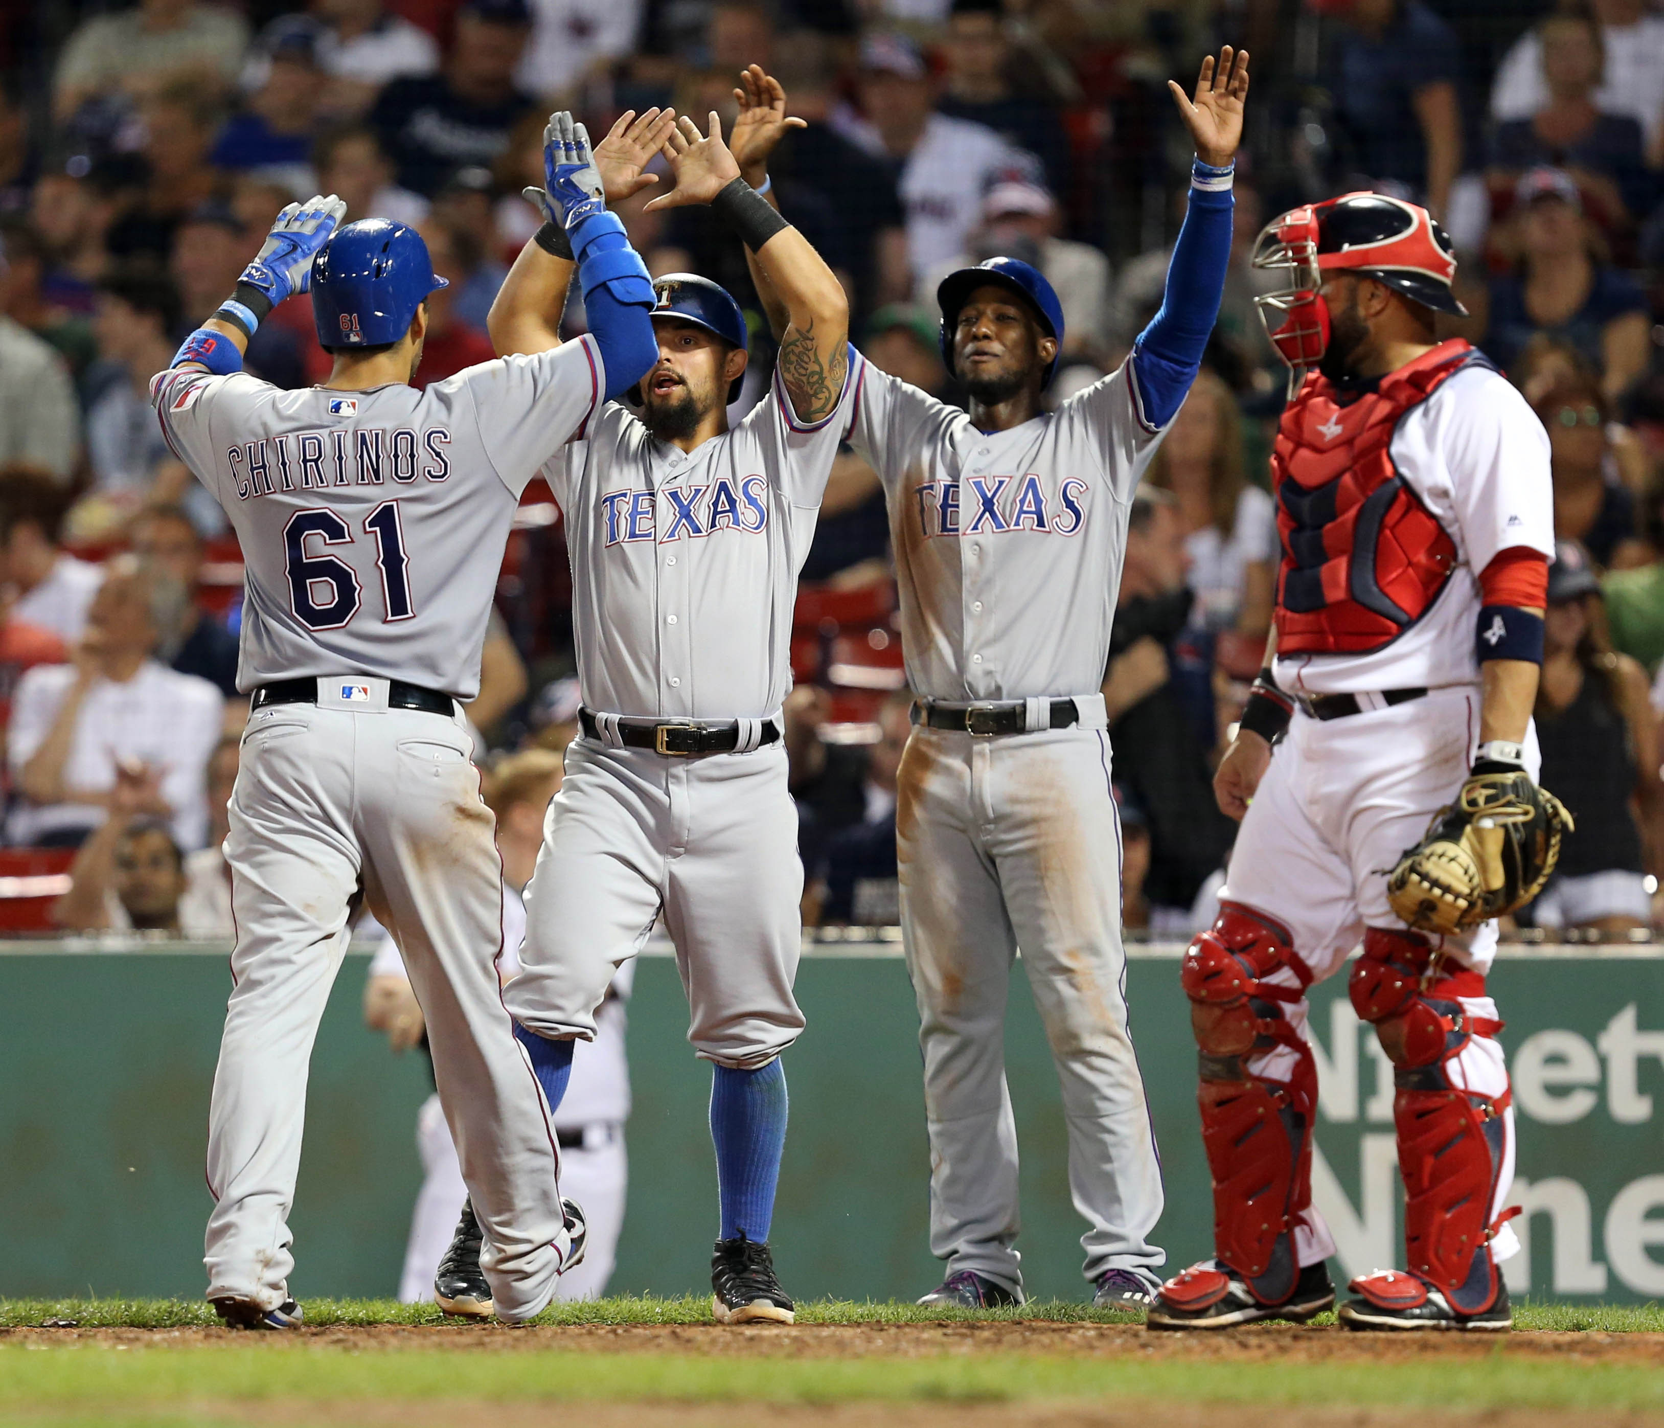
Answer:
<path fill-rule="evenodd" d="M 521 489 L 656 358 L 646 268 L 586 178 L 587 153 L 551 171 L 592 283 L 582 341 L 416 391 L 426 296 L 444 280 L 401 225 L 331 236 L 344 205 L 318 198 L 280 215 L 236 295 L 151 386 L 248 571 L 238 687 L 253 712 L 226 839 L 235 985 L 208 1133 L 208 1297 L 233 1325 L 301 1316 L 286 1220 L 306 1067 L 359 895 L 398 939 L 428 1020 L 498 1313 L 537 1313 L 582 1248 L 498 999 L 499 862 L 458 706 L 479 687 Z M 280 391 L 243 374 L 248 336 L 308 286 L 329 381 Z"/>

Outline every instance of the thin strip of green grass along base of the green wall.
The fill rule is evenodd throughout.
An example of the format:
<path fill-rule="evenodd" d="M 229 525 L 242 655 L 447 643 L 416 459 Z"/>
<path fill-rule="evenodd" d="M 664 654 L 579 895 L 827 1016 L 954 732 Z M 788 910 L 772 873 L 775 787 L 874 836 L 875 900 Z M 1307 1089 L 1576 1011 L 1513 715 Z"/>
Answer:
<path fill-rule="evenodd" d="M 306 1300 L 306 1323 L 319 1328 L 333 1325 L 443 1325 L 446 1320 L 433 1305 L 401 1305 L 396 1300 Z M 37 1328 L 48 1321 L 68 1321 L 80 1328 L 191 1328 L 216 1325 L 213 1308 L 205 1300 L 0 1300 L 0 1328 Z M 1000 1323 L 1043 1320 L 1050 1323 L 1125 1323 L 1120 1315 L 1083 1303 L 1050 1300 L 1007 1310 L 943 1310 L 912 1303 L 854 1303 L 817 1300 L 797 1307 L 804 1325 L 894 1325 L 894 1323 Z M 537 1325 L 632 1325 L 632 1323 L 711 1323 L 711 1300 L 706 1295 L 682 1298 L 611 1298 L 591 1303 L 559 1303 L 544 1310 Z M 1316 1320 L 1333 1323 L 1331 1315 Z M 1567 1305 L 1518 1303 L 1514 1325 L 1521 1330 L 1664 1333 L 1664 1308 L 1649 1305 Z M 468 1331 L 473 1325 L 453 1325 Z"/>

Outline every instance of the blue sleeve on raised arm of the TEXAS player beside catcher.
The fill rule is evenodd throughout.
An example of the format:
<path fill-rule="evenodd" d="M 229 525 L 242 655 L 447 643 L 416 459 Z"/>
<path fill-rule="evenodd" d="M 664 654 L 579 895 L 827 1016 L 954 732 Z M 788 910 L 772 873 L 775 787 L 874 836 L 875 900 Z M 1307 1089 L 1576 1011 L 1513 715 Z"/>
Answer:
<path fill-rule="evenodd" d="M 1133 376 L 1150 426 L 1166 426 L 1173 419 L 1201 368 L 1201 353 L 1225 295 L 1233 206 L 1230 188 L 1190 190 L 1190 211 L 1166 266 L 1161 311 L 1133 343 Z"/>

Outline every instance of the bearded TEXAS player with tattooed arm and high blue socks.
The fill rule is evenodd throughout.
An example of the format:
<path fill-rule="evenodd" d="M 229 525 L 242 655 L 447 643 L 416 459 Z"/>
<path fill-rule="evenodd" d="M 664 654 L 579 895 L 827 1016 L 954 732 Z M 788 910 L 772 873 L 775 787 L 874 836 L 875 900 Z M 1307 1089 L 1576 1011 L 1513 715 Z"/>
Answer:
<path fill-rule="evenodd" d="M 617 135 L 597 158 L 614 156 Z M 624 148 L 609 193 L 637 190 L 656 153 Z M 711 203 L 789 318 L 772 391 L 729 429 L 745 369 L 739 306 L 704 278 L 659 278 L 641 413 L 607 406 L 544 468 L 572 561 L 582 736 L 549 806 L 504 1002 L 559 1105 L 574 1039 L 594 1039 L 616 967 L 664 917 L 689 1040 L 714 1062 L 714 1313 L 790 1323 L 769 1232 L 785 1143 L 779 1059 L 804 1027 L 792 995 L 804 875 L 780 704 L 797 571 L 849 423 L 849 310 L 830 268 L 739 176 L 716 113 L 709 135 L 681 120 L 664 153 L 676 190 L 649 206 Z M 493 308 L 499 351 L 557 341 L 567 275 L 526 246 Z"/>

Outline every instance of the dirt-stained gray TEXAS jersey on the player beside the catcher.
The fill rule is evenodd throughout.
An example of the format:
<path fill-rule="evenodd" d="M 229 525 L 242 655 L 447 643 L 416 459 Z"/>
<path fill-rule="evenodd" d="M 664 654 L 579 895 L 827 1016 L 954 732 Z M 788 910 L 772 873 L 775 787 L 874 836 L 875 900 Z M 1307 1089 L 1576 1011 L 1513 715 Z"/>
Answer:
<path fill-rule="evenodd" d="M 1130 363 L 997 433 L 862 366 L 849 439 L 889 499 L 915 692 L 967 701 L 1098 689 L 1132 494 L 1160 438 L 1140 413 Z"/>

